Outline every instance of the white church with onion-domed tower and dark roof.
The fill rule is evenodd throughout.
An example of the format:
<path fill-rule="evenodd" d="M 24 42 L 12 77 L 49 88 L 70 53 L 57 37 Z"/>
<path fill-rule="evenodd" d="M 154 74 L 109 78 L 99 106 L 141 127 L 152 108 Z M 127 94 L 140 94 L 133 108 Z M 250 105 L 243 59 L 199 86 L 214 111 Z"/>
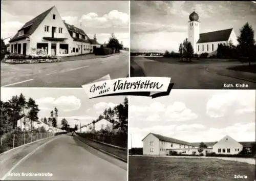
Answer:
<path fill-rule="evenodd" d="M 198 14 L 194 11 L 189 15 L 188 21 L 188 41 L 191 42 L 194 53 L 208 53 L 216 55 L 219 44 L 228 45 L 230 42 L 237 46 L 238 40 L 232 28 L 218 30 L 207 33 L 200 33 L 200 22 Z"/>

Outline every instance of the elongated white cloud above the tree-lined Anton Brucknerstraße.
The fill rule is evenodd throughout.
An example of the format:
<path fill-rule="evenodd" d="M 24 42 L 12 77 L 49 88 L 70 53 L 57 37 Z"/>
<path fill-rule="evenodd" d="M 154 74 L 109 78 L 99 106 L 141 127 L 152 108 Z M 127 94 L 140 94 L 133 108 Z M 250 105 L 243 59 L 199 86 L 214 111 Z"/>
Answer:
<path fill-rule="evenodd" d="M 55 106 L 58 110 L 72 111 L 77 110 L 81 106 L 81 101 L 75 96 L 61 96 L 59 98 L 46 97 L 37 99 L 36 103 L 39 109 L 53 109 Z"/>

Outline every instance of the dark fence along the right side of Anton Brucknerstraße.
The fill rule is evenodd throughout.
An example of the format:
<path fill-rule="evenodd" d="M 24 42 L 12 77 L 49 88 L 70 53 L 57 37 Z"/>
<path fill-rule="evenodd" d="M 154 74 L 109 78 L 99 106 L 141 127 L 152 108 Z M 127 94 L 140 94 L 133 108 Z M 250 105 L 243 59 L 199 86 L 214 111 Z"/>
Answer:
<path fill-rule="evenodd" d="M 99 142 L 127 148 L 127 135 L 104 135 L 104 134 L 93 134 L 93 133 L 78 133 L 83 138 L 96 140 Z"/>

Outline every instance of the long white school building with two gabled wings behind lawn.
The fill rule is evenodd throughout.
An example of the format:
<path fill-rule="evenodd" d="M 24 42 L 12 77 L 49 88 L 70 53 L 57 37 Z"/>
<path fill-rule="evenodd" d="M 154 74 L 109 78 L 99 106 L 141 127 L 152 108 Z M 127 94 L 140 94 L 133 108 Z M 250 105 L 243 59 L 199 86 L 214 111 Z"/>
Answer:
<path fill-rule="evenodd" d="M 182 154 L 200 154 L 215 152 L 216 154 L 238 154 L 243 150 L 243 145 L 250 148 L 251 143 L 255 142 L 237 142 L 226 135 L 219 142 L 205 142 L 207 148 L 200 148 L 200 143 L 189 143 L 160 134 L 149 133 L 142 140 L 143 155 L 172 155 L 172 152 Z M 199 148 L 202 152 L 199 152 Z"/>

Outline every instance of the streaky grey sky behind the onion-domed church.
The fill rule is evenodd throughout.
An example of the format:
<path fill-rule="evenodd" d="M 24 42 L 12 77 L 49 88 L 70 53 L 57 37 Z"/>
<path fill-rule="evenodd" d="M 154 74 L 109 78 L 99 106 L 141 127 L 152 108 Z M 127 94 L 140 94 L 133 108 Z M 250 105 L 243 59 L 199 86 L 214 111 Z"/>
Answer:
<path fill-rule="evenodd" d="M 256 2 L 131 1 L 131 49 L 177 52 L 194 9 L 200 33 L 233 28 L 238 36 L 246 22 L 256 31 Z"/>

